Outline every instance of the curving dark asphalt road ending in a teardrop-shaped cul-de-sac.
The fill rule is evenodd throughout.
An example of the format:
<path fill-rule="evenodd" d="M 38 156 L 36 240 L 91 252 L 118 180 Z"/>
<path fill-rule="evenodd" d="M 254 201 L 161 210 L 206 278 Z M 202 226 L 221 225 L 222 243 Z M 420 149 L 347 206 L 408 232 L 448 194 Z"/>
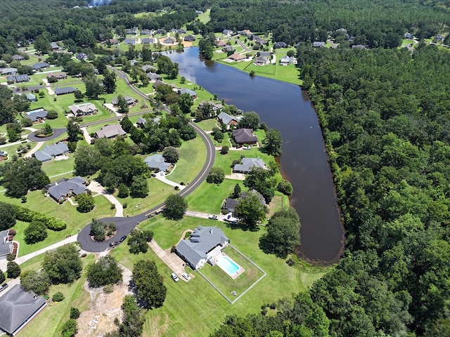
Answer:
<path fill-rule="evenodd" d="M 128 86 L 130 86 L 130 88 L 133 91 L 135 91 L 142 97 L 147 98 L 146 95 L 144 95 L 140 91 L 137 91 L 136 88 L 131 86 L 127 75 L 125 75 L 123 72 L 120 72 L 120 70 L 115 70 L 115 71 L 119 72 L 122 75 L 121 78 L 125 79 Z M 205 131 L 203 131 L 202 128 L 199 128 L 197 125 L 195 125 L 193 123 L 190 123 L 190 125 L 193 126 L 193 128 L 195 128 L 195 131 L 197 131 L 197 133 L 200 135 L 200 137 L 203 139 L 203 141 L 206 144 L 206 151 L 207 151 L 206 152 L 206 162 L 203 165 L 203 168 L 200 171 L 200 173 L 198 173 L 198 176 L 196 176 L 195 179 L 184 190 L 179 192 L 179 195 L 181 195 L 182 197 L 186 197 L 186 195 L 193 192 L 193 190 L 195 190 L 195 188 L 197 188 L 200 185 L 200 183 L 202 183 L 203 180 L 205 180 L 205 178 L 207 177 L 207 174 L 210 172 L 210 169 L 212 168 L 212 165 L 214 164 L 214 156 L 215 156 L 214 144 L 212 143 L 212 140 L 207 135 L 207 133 L 205 133 Z M 81 230 L 81 232 L 79 232 L 79 234 L 78 234 L 78 242 L 82 246 L 82 249 L 84 251 L 90 251 L 90 252 L 105 251 L 105 249 L 108 249 L 111 242 L 119 241 L 119 239 L 121 237 L 123 237 L 124 235 L 128 235 L 129 232 L 131 232 L 131 230 L 133 230 L 137 224 L 141 223 L 143 220 L 150 218 L 151 213 L 162 210 L 164 208 L 164 206 L 165 206 L 165 204 L 161 203 L 158 206 L 153 207 L 153 209 L 149 209 L 148 211 L 145 211 L 137 216 L 127 217 L 127 218 L 112 217 L 112 218 L 100 219 L 103 223 L 115 223 L 117 225 L 117 233 L 115 234 L 115 236 L 104 242 L 94 242 L 91 239 L 91 236 L 89 234 L 89 232 L 91 231 L 91 226 L 86 225 L 86 227 L 84 227 Z"/>

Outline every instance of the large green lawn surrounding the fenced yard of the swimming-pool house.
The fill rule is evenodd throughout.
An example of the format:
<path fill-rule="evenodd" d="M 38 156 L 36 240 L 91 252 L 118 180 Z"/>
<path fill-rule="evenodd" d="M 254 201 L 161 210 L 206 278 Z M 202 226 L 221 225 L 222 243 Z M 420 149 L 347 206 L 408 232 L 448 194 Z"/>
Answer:
<path fill-rule="evenodd" d="M 259 237 L 264 234 L 264 228 L 259 232 L 249 232 L 233 230 L 226 224 L 214 220 L 185 217 L 181 221 L 174 222 L 160 216 L 142 223 L 141 227 L 153 230 L 156 242 L 163 249 L 167 249 L 179 241 L 184 230 L 198 225 L 220 227 L 233 246 L 262 267 L 267 272 L 267 276 L 231 305 L 195 272 L 190 282 L 175 283 L 170 279 L 172 271 L 155 256 L 153 251 L 133 256 L 128 253 L 128 246 L 122 244 L 111 253 L 125 267 L 132 268 L 135 261 L 149 258 L 155 260 L 160 274 L 165 277 L 165 286 L 167 286 L 165 303 L 162 308 L 147 312 L 143 336 L 179 336 L 180 331 L 183 331 L 183 336 L 207 336 L 217 329 L 226 315 L 259 312 L 263 304 L 273 303 L 278 298 L 290 297 L 292 293 L 304 291 L 311 286 L 311 282 L 319 279 L 326 271 L 321 268 L 308 270 L 300 265 L 289 267 L 284 260 L 262 253 L 258 242 Z M 195 319 L 186 318 L 186 312 L 195 312 Z"/>

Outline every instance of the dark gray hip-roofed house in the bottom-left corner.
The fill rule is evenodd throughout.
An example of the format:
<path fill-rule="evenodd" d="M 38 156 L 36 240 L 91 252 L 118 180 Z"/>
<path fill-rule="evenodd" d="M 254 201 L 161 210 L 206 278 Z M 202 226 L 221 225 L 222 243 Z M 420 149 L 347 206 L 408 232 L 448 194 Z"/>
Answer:
<path fill-rule="evenodd" d="M 15 284 L 0 297 L 0 329 L 15 336 L 46 305 L 45 298 L 32 291 L 24 291 L 19 284 Z"/>

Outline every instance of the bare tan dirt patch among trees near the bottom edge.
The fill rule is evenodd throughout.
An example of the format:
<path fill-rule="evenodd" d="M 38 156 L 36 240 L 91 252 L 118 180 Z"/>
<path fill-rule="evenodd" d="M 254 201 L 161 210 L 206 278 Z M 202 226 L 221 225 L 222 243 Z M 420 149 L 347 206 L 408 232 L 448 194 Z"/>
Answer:
<path fill-rule="evenodd" d="M 103 336 L 104 333 L 114 331 L 117 326 L 114 319 L 122 319 L 123 297 L 131 292 L 128 290 L 129 281 L 131 279 L 131 270 L 122 267 L 123 282 L 116 284 L 112 293 L 104 293 L 103 291 L 91 291 L 91 303 L 89 308 L 84 310 L 77 319 L 78 333 L 77 337 L 84 336 Z"/>

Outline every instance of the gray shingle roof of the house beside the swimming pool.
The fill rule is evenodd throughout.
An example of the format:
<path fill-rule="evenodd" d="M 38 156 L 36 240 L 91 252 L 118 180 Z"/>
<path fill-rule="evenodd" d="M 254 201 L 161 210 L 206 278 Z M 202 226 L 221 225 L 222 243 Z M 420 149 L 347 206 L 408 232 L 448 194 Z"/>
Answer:
<path fill-rule="evenodd" d="M 190 239 L 184 239 L 176 245 L 176 251 L 191 267 L 195 267 L 200 260 L 207 258 L 207 253 L 218 245 L 224 246 L 229 238 L 217 227 L 201 227 L 193 230 Z"/>

